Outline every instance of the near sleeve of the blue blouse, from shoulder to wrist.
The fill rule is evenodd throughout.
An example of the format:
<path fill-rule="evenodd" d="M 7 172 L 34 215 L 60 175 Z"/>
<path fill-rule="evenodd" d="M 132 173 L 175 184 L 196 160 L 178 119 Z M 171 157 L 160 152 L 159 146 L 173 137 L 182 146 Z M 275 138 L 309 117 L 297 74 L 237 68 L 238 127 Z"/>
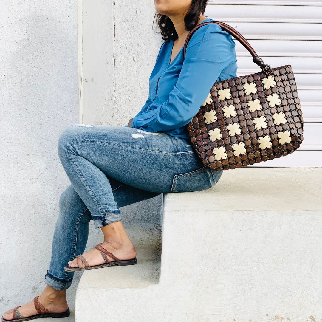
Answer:
<path fill-rule="evenodd" d="M 185 59 L 169 99 L 155 109 L 137 114 L 133 128 L 148 132 L 170 131 L 188 124 L 206 100 L 221 71 L 236 61 L 232 36 L 217 24 L 190 39 Z"/>

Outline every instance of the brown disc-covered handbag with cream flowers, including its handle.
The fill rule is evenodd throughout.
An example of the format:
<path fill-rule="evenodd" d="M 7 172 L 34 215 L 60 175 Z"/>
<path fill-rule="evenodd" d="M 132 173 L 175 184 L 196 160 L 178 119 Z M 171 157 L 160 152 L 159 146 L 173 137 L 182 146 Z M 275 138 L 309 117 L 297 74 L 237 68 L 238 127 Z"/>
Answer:
<path fill-rule="evenodd" d="M 198 113 L 187 124 L 204 166 L 222 171 L 293 153 L 303 141 L 303 117 L 291 65 L 271 68 L 228 24 L 219 24 L 251 53 L 261 71 L 215 82 Z"/>

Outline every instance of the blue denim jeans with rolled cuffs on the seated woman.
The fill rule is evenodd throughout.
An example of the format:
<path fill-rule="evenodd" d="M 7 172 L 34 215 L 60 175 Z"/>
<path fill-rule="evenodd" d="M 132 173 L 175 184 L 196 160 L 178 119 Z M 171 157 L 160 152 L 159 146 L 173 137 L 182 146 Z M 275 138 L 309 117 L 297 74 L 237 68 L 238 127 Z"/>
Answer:
<path fill-rule="evenodd" d="M 119 207 L 161 193 L 212 187 L 222 171 L 203 166 L 190 141 L 137 128 L 78 124 L 65 129 L 58 155 L 71 185 L 61 194 L 45 283 L 68 289 L 63 268 L 85 250 L 90 220 L 99 228 L 121 220 Z"/>

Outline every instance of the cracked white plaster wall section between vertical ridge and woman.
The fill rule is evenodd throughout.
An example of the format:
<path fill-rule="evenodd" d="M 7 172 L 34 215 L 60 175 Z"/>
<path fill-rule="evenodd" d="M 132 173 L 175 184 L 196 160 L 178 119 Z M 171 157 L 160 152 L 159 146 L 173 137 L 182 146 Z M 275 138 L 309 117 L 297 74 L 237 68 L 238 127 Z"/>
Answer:
<path fill-rule="evenodd" d="M 162 43 L 153 1 L 82 1 L 81 120 L 124 126 L 145 104 Z M 161 222 L 162 194 L 121 208 L 125 224 Z"/>

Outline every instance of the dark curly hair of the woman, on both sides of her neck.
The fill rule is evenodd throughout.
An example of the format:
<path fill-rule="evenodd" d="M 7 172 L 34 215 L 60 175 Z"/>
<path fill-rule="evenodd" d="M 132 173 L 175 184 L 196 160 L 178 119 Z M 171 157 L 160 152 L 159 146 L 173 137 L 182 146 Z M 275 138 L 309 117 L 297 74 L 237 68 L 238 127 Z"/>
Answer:
<path fill-rule="evenodd" d="M 187 31 L 192 30 L 200 19 L 200 13 L 204 14 L 208 0 L 192 0 L 190 8 L 185 15 L 185 29 Z M 175 41 L 178 39 L 178 34 L 175 31 L 175 27 L 171 19 L 164 15 L 156 12 L 154 19 L 161 30 L 162 39 L 166 42 L 170 40 Z"/>

